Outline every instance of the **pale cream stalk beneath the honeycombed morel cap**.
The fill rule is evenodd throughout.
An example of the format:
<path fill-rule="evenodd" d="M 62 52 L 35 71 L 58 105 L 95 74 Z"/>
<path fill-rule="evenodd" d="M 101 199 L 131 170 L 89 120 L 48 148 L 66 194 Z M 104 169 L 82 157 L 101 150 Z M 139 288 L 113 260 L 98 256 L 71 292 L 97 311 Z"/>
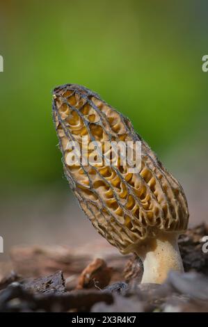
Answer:
<path fill-rule="evenodd" d="M 135 248 L 136 254 L 143 261 L 141 283 L 161 284 L 170 270 L 184 271 L 177 244 L 178 237 L 178 233 L 161 232 L 157 237 L 149 238 L 142 246 Z"/>

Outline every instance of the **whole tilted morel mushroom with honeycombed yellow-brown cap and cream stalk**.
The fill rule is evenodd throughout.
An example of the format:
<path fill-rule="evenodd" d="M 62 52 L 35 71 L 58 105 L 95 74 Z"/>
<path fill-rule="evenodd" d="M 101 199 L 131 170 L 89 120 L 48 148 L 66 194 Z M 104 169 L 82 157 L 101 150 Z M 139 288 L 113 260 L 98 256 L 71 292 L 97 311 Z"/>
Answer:
<path fill-rule="evenodd" d="M 121 253 L 141 257 L 142 282 L 161 283 L 168 271 L 183 271 L 177 239 L 189 221 L 184 191 L 131 122 L 99 95 L 74 84 L 54 89 L 53 114 L 65 175 L 96 230 Z M 116 166 L 104 160 L 72 164 L 69 141 L 79 144 L 83 155 L 83 136 L 85 146 L 99 141 L 102 150 L 105 141 L 141 141 L 141 170 L 129 172 L 120 158 Z M 86 159 L 92 152 L 90 147 Z"/>

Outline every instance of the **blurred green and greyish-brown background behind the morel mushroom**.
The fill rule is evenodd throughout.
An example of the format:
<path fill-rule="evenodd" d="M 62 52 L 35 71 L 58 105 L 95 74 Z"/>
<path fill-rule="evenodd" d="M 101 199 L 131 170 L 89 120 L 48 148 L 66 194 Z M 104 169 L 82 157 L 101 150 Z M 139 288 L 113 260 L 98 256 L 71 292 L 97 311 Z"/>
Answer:
<path fill-rule="evenodd" d="M 127 115 L 207 218 L 206 0 L 1 1 L 1 221 L 16 244 L 99 239 L 63 176 L 51 90 L 79 83 Z"/>

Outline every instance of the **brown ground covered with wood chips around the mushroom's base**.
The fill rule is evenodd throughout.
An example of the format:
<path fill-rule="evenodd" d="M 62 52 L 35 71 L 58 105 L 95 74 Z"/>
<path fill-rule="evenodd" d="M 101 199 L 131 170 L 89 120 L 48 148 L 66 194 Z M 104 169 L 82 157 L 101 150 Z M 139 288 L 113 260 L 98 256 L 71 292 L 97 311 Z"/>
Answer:
<path fill-rule="evenodd" d="M 0 266 L 0 312 L 208 312 L 208 226 L 179 238 L 185 273 L 140 284 L 141 260 L 111 247 L 15 247 Z"/>

